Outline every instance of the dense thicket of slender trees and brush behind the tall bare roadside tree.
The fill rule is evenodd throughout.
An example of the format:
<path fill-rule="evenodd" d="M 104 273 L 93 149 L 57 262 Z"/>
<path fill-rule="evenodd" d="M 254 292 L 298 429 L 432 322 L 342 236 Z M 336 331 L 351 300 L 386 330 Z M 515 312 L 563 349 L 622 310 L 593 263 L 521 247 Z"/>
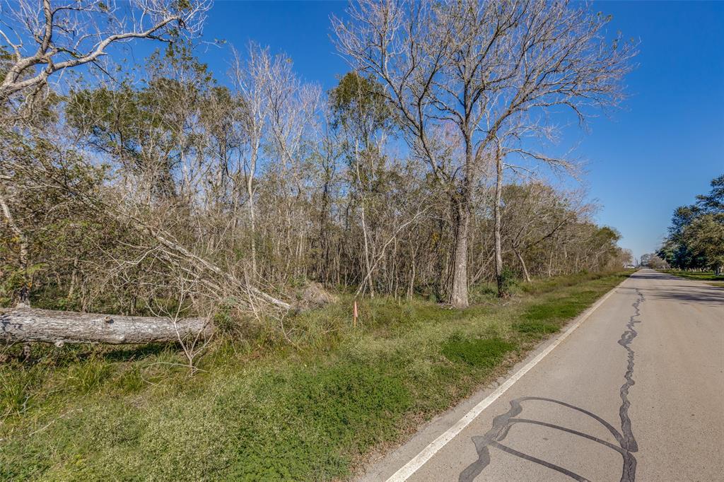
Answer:
<path fill-rule="evenodd" d="M 492 14 L 482 4 L 470 8 Z M 535 8 L 551 24 L 586 14 Z M 508 14 L 537 21 L 532 11 Z M 591 51 L 578 62 L 584 53 Z M 3 303 L 29 297 L 36 305 L 159 314 L 180 305 L 211 313 L 223 304 L 262 313 L 289 308 L 298 287 L 317 281 L 358 295 L 466 305 L 468 284 L 497 281 L 505 294 L 514 277 L 630 261 L 618 233 L 592 221 L 581 193 L 510 161 L 523 154 L 515 139 L 531 129 L 524 117 L 507 131 L 513 140 L 478 145 L 462 170 L 458 160 L 480 132 L 470 127 L 471 137 L 460 138 L 442 122 L 428 146 L 437 163 L 431 172 L 390 85 L 369 70 L 323 92 L 269 48 L 252 44 L 231 58 L 227 75 L 214 76 L 179 40 L 111 80 L 77 80 L 57 92 L 43 84 L 42 96 L 4 97 Z M 9 75 L 12 51 L 2 59 Z M 578 72 L 564 61 L 569 67 L 560 69 Z M 600 69 L 619 69 L 618 62 Z M 581 98 L 607 88 L 595 81 L 576 80 Z M 588 106 L 576 104 L 571 88 L 544 92 L 541 102 L 560 96 L 556 103 L 583 115 Z M 454 296 L 460 287 L 464 298 Z"/>

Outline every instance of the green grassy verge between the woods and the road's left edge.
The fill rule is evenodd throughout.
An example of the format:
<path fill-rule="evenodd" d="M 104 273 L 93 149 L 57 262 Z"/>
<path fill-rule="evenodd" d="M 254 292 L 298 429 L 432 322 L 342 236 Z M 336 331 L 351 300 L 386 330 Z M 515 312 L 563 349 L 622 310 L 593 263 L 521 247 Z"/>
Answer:
<path fill-rule="evenodd" d="M 188 376 L 174 347 L 47 347 L 0 365 L 0 480 L 330 480 L 521 360 L 620 274 L 576 274 L 467 310 L 348 301 L 287 337 L 218 344 Z"/>

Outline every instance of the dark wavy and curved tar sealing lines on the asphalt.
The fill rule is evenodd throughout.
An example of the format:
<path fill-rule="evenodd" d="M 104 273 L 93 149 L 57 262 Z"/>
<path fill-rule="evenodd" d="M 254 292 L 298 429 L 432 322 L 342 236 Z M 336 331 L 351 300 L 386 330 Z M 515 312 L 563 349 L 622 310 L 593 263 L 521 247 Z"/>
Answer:
<path fill-rule="evenodd" d="M 535 462 L 539 465 L 543 465 L 544 467 L 556 470 L 559 473 L 568 475 L 576 481 L 588 480 L 581 475 L 571 472 L 571 470 L 560 467 L 559 465 L 546 462 L 545 460 L 538 459 L 529 454 L 523 454 L 523 452 L 518 452 L 515 449 L 511 449 L 510 447 L 500 444 L 500 442 L 508 436 L 510 428 L 513 427 L 515 423 L 531 423 L 535 425 L 546 426 L 549 428 L 555 428 L 556 430 L 565 431 L 569 434 L 581 436 L 585 439 L 596 441 L 599 444 L 614 449 L 619 452 L 623 457 L 623 467 L 621 470 L 620 482 L 633 482 L 636 480 L 636 457 L 633 456 L 633 452 L 638 451 L 639 445 L 636 443 L 636 439 L 633 436 L 633 431 L 631 429 L 631 418 L 629 418 L 628 416 L 628 409 L 629 407 L 631 407 L 631 402 L 628 400 L 628 390 L 631 389 L 631 386 L 636 383 L 635 381 L 633 381 L 635 353 L 633 352 L 633 349 L 630 345 L 631 342 L 633 342 L 633 339 L 636 338 L 636 336 L 639 334 L 638 331 L 633 328 L 633 325 L 641 323 L 641 321 L 637 320 L 636 318 L 641 315 L 640 305 L 644 302 L 644 295 L 643 293 L 641 293 L 641 290 L 639 288 L 636 288 L 636 295 L 638 295 L 638 297 L 636 298 L 636 301 L 633 302 L 633 304 L 631 305 L 634 313 L 631 318 L 629 318 L 628 324 L 626 324 L 626 331 L 623 331 L 623 334 L 621 334 L 621 338 L 618 340 L 618 344 L 626 349 L 628 359 L 626 373 L 623 376 L 626 381 L 620 388 L 621 405 L 619 407 L 618 413 L 621 420 L 621 431 L 619 432 L 618 430 L 616 430 L 610 423 L 608 423 L 606 420 L 599 417 L 598 415 L 595 415 L 588 410 L 584 410 L 583 408 L 576 407 L 575 405 L 571 405 L 570 403 L 562 402 L 560 400 L 544 397 L 520 397 L 517 399 L 513 399 L 510 400 L 510 410 L 501 415 L 497 415 L 497 417 L 493 419 L 492 428 L 490 428 L 487 434 L 485 434 L 484 436 L 473 436 L 472 441 L 473 444 L 475 444 L 476 452 L 478 452 L 478 460 L 468 465 L 468 467 L 466 467 L 465 470 L 460 473 L 460 475 L 458 476 L 458 481 L 471 482 L 474 478 L 482 473 L 482 471 L 490 463 L 489 447 L 491 446 L 497 447 L 498 449 L 503 450 L 504 452 L 508 452 L 509 454 L 513 454 L 516 457 L 521 457 L 524 460 L 529 460 L 530 462 Z M 602 426 L 607 428 L 607 430 L 615 437 L 616 441 L 618 441 L 620 447 L 616 447 L 614 444 L 611 444 L 608 441 L 599 439 L 589 434 L 584 434 L 583 432 L 575 431 L 571 428 L 557 426 L 555 424 L 542 422 L 539 420 L 514 418 L 516 415 L 519 415 L 523 411 L 521 402 L 525 402 L 526 400 L 540 400 L 543 402 L 556 403 L 558 405 L 563 405 L 564 407 L 568 407 L 573 410 L 577 410 L 578 412 L 584 413 L 585 415 L 588 415 L 590 418 L 593 418 Z"/>

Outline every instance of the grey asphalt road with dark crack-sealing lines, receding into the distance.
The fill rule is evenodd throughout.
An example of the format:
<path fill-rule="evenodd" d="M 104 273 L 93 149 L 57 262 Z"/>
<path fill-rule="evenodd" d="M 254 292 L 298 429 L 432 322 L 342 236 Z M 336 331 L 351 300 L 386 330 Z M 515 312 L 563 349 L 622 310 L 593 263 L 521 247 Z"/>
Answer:
<path fill-rule="evenodd" d="M 430 449 L 491 392 L 430 423 L 362 479 L 724 481 L 724 289 L 637 272 Z M 432 457 L 411 462 L 425 449 Z"/>

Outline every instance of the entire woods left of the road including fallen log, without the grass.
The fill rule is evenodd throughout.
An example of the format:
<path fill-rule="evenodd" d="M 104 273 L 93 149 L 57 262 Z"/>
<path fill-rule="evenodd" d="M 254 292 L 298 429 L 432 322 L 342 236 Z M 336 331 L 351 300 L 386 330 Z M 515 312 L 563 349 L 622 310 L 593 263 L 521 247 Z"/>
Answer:
<path fill-rule="evenodd" d="M 476 284 L 505 296 L 631 260 L 585 193 L 546 180 L 578 174 L 546 151 L 550 116 L 616 106 L 635 54 L 582 4 L 363 0 L 333 21 L 352 69 L 329 92 L 254 43 L 210 72 L 193 43 L 206 1 L 70 4 L 4 11 L 4 305 L 152 315 L 174 334 L 180 317 L 282 316 L 310 282 L 465 308 Z M 165 45 L 132 67 L 105 55 L 133 39 Z M 163 338 L 72 334 L 98 317 L 4 337 Z"/>

